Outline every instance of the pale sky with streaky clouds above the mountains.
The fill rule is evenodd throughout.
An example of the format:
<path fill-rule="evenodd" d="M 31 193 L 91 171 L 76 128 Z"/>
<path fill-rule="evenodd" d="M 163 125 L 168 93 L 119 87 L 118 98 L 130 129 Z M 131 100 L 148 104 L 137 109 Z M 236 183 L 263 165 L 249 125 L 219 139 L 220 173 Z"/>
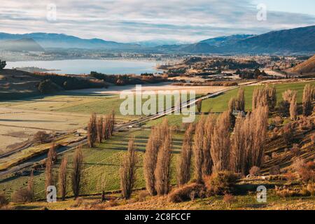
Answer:
<path fill-rule="evenodd" d="M 0 32 L 191 43 L 315 25 L 314 0 L 1 0 Z"/>

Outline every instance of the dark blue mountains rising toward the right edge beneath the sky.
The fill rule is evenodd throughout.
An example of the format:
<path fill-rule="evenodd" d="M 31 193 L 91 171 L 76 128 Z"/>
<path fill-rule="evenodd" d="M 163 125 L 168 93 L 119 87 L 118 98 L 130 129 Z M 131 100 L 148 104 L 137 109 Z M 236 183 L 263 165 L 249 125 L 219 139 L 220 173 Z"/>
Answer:
<path fill-rule="evenodd" d="M 221 36 L 190 45 L 163 45 L 156 50 L 223 54 L 313 54 L 315 26 L 270 31 L 257 36 L 249 34 Z"/>

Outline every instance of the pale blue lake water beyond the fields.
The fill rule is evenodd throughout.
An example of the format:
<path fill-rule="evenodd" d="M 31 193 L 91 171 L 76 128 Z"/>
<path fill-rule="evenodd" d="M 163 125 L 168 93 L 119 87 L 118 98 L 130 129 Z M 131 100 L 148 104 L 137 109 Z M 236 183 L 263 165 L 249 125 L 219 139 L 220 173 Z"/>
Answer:
<path fill-rule="evenodd" d="M 106 74 L 158 73 L 156 62 L 123 59 L 73 59 L 59 61 L 6 62 L 6 69 L 35 66 L 41 69 L 57 69 L 53 73 L 83 74 L 97 71 Z"/>

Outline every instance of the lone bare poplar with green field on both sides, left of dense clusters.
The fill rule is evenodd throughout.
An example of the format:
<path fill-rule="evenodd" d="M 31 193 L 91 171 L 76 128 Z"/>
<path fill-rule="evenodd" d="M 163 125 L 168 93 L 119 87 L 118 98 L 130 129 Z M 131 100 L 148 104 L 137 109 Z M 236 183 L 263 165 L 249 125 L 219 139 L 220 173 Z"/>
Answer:
<path fill-rule="evenodd" d="M 125 199 L 130 199 L 132 195 L 132 189 L 136 181 L 137 172 L 137 153 L 134 147 L 134 137 L 130 138 L 128 144 L 128 152 L 123 158 L 122 165 L 120 167 L 120 187 Z"/>

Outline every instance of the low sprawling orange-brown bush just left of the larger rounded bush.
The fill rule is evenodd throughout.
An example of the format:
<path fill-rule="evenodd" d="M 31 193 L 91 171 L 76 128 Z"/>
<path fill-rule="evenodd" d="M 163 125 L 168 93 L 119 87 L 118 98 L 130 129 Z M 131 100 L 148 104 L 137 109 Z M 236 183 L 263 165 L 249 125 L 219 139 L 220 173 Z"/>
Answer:
<path fill-rule="evenodd" d="M 204 186 L 198 183 L 189 183 L 169 193 L 169 201 L 174 203 L 194 200 L 195 197 L 204 197 Z"/>

